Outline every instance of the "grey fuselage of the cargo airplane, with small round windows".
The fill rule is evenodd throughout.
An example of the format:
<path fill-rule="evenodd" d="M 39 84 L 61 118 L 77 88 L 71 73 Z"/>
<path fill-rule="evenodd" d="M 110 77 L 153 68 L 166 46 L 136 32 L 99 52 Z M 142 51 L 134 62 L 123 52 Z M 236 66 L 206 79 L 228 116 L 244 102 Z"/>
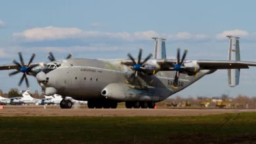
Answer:
<path fill-rule="evenodd" d="M 119 60 L 70 59 L 62 60 L 61 67 L 46 73 L 47 82 L 39 82 L 39 84 L 42 86 L 46 96 L 50 96 L 56 91 L 56 94 L 71 96 L 74 99 L 101 99 L 105 98 L 101 92 L 108 84 L 115 83 L 117 85 L 131 86 L 131 84 L 125 81 L 125 77 L 129 73 L 133 73 L 133 70 L 125 65 L 120 65 Z M 202 70 L 196 77 L 181 73 L 179 88 L 177 89 L 171 86 L 175 77 L 175 71 L 160 71 L 156 75 L 152 75 L 151 79 L 154 80 L 152 83 L 147 82 L 143 76 L 138 76 L 139 79 L 141 78 L 142 83 L 144 82 L 144 86 L 151 88 L 152 98 L 149 96 L 149 98 L 141 99 L 140 96 L 142 95 L 135 94 L 136 96 L 132 100 L 163 101 L 190 86 L 190 84 L 198 81 L 198 79 L 201 79 L 208 73 L 211 73 L 211 71 Z M 150 92 L 150 90 L 146 89 L 144 91 Z M 133 93 L 141 93 L 142 91 L 133 90 Z M 129 96 L 125 99 L 129 100 Z"/>

